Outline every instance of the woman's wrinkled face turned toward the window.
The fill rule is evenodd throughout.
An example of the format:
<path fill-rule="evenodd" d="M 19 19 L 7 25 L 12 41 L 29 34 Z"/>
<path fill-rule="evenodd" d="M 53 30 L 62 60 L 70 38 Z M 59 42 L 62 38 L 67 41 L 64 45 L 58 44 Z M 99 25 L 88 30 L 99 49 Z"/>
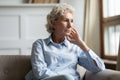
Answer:
<path fill-rule="evenodd" d="M 59 16 L 56 21 L 52 22 L 54 26 L 54 34 L 65 36 L 69 29 L 73 26 L 73 14 L 66 12 L 65 14 Z"/>

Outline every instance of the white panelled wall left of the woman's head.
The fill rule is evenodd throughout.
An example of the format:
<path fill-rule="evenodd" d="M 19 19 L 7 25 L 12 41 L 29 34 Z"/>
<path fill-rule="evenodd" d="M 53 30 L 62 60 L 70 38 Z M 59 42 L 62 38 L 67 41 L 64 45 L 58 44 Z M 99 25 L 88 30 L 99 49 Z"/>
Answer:
<path fill-rule="evenodd" d="M 0 5 L 0 55 L 29 55 L 33 41 L 48 37 L 46 15 L 54 5 Z"/>

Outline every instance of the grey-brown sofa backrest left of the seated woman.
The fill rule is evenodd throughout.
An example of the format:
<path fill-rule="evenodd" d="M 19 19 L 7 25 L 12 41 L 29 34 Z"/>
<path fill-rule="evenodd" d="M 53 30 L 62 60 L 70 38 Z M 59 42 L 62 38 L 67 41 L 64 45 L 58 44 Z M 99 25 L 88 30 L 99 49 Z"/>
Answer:
<path fill-rule="evenodd" d="M 24 80 L 30 69 L 30 56 L 0 55 L 0 80 Z"/>

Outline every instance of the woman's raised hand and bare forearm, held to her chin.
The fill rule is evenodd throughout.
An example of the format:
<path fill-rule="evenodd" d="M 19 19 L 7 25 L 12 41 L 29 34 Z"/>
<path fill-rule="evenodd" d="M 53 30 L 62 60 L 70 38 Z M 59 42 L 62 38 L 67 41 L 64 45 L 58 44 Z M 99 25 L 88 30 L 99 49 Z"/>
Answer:
<path fill-rule="evenodd" d="M 67 39 L 78 45 L 81 49 L 83 49 L 84 51 L 88 51 L 89 50 L 89 47 L 85 44 L 85 42 L 81 39 L 81 37 L 79 36 L 78 32 L 73 28 L 71 27 L 67 33 L 66 33 L 66 37 Z"/>

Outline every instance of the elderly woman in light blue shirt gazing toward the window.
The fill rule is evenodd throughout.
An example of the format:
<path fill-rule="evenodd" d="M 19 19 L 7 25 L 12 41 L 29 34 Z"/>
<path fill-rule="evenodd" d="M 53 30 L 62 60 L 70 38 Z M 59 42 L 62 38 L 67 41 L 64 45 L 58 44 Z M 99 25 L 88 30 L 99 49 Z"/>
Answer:
<path fill-rule="evenodd" d="M 105 69 L 74 29 L 73 13 L 74 9 L 64 3 L 47 15 L 46 28 L 51 35 L 33 43 L 32 70 L 26 80 L 80 80 L 77 64 L 93 73 Z"/>

